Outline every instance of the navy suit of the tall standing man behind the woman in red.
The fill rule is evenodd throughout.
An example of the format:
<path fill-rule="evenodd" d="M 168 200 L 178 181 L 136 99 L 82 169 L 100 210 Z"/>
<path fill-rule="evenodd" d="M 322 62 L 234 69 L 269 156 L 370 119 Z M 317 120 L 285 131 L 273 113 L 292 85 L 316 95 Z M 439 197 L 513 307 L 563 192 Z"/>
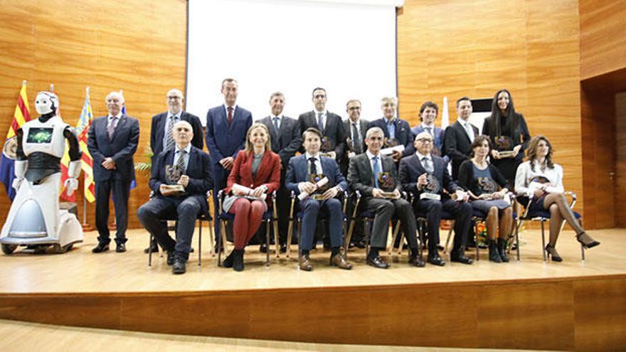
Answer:
<path fill-rule="evenodd" d="M 233 122 L 228 124 L 225 105 L 212 107 L 206 113 L 206 147 L 213 161 L 213 204 L 218 204 L 218 192 L 226 188 L 230 170 L 220 164 L 220 160 L 228 156 L 237 157 L 237 153 L 245 148 L 245 135 L 252 126 L 252 114 L 237 105 L 233 113 Z M 219 216 L 215 206 L 215 216 Z M 220 234 L 220 226 L 215 222 L 215 234 Z"/>

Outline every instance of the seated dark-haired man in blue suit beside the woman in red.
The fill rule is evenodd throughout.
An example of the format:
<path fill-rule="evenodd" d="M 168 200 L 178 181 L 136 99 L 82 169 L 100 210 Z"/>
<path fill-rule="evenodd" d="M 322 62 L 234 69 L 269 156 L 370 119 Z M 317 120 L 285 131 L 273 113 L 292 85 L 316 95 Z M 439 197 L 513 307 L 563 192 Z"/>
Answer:
<path fill-rule="evenodd" d="M 339 165 L 337 165 L 334 159 L 319 155 L 319 147 L 322 144 L 322 133 L 319 130 L 315 128 L 307 129 L 302 134 L 302 140 L 304 141 L 306 152 L 302 155 L 294 156 L 289 161 L 285 180 L 287 189 L 294 191 L 295 194 L 301 192 L 309 193 L 307 198 L 299 202 L 299 207 L 303 213 L 302 238 L 300 239 L 302 256 L 300 257 L 299 267 L 306 271 L 313 270 L 313 266 L 309 261 L 309 250 L 311 250 L 313 245 L 319 210 L 326 208 L 328 210 L 332 251 L 330 264 L 341 269 L 351 269 L 352 265 L 346 262 L 344 256 L 341 255 L 341 245 L 344 243 L 344 236 L 341 231 L 343 214 L 341 202 L 335 198 L 337 194 L 348 188 L 348 183 L 346 183 L 344 175 L 341 175 Z M 328 178 L 328 183 L 326 186 L 317 189 L 311 181 L 322 176 Z"/>

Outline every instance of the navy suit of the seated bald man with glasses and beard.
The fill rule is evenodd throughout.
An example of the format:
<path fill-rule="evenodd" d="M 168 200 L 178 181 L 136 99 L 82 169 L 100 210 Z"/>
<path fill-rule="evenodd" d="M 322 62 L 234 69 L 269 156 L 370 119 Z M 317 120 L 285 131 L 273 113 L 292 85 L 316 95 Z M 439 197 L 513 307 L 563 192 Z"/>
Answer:
<path fill-rule="evenodd" d="M 452 249 L 452 254 L 455 254 L 463 250 L 462 246 L 465 245 L 467 230 L 470 228 L 472 206 L 467 202 L 452 201 L 452 199 L 444 195 L 444 188 L 450 194 L 455 193 L 457 190 L 462 190 L 462 188 L 452 181 L 450 174 L 447 172 L 447 163 L 439 156 L 431 155 L 431 157 L 433 159 L 433 176 L 441 186 L 438 193 L 441 196 L 441 201 L 426 198 L 420 199 L 420 194 L 423 193 L 423 190 L 417 188 L 418 177 L 425 174 L 426 170 L 423 168 L 417 153 L 400 160 L 400 170 L 398 171 L 400 183 L 403 191 L 412 193 L 416 199 L 414 203 L 415 214 L 423 214 L 428 220 L 429 256 L 437 252 L 442 211 L 447 211 L 455 218 L 455 245 Z"/>

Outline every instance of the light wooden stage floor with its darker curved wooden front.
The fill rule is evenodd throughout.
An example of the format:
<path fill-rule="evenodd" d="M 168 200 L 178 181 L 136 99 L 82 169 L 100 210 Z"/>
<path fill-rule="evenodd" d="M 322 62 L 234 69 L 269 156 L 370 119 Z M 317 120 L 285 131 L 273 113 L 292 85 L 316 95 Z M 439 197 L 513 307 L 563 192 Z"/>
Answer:
<path fill-rule="evenodd" d="M 626 346 L 626 230 L 590 231 L 586 252 L 571 231 L 558 242 L 563 262 L 544 263 L 539 230 L 521 233 L 521 261 L 389 270 L 351 250 L 351 271 L 312 252 L 313 272 L 292 258 L 248 248 L 245 271 L 216 267 L 203 229 L 184 275 L 165 257 L 147 265 L 147 233 L 131 230 L 127 252 L 90 251 L 95 233 L 63 255 L 0 255 L 0 319 L 166 334 L 283 341 L 467 348 L 603 351 Z M 445 238 L 444 238 L 445 239 Z M 272 253 L 273 254 L 273 253 Z M 474 257 L 474 252 L 467 252 Z M 511 257 L 514 259 L 514 256 Z"/>

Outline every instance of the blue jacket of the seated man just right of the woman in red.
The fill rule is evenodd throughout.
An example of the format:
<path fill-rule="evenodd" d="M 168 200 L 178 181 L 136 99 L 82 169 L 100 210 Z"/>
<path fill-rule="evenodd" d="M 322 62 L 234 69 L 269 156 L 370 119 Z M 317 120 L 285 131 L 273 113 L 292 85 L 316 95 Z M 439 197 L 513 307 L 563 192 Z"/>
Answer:
<path fill-rule="evenodd" d="M 322 163 L 324 175 L 328 177 L 329 187 L 339 185 L 344 191 L 348 189 L 346 178 L 339 171 L 339 165 L 337 165 L 336 161 L 327 156 L 322 156 L 319 161 Z M 287 176 L 285 176 L 285 186 L 288 190 L 299 194 L 298 183 L 309 181 L 308 162 L 306 154 L 294 156 L 290 159 L 289 166 L 287 166 Z"/>

